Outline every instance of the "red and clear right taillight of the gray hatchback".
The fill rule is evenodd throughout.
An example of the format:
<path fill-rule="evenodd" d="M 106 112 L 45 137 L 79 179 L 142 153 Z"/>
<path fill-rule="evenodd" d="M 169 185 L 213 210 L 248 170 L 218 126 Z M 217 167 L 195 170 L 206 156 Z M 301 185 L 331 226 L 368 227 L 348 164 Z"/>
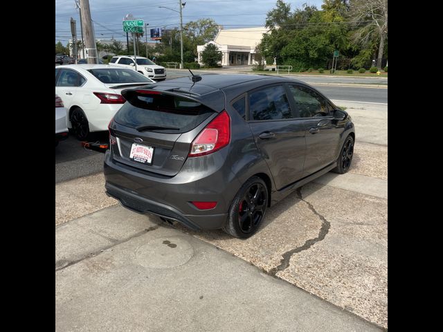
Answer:
<path fill-rule="evenodd" d="M 205 156 L 226 147 L 230 141 L 230 118 L 222 111 L 199 133 L 191 144 L 189 157 Z"/>

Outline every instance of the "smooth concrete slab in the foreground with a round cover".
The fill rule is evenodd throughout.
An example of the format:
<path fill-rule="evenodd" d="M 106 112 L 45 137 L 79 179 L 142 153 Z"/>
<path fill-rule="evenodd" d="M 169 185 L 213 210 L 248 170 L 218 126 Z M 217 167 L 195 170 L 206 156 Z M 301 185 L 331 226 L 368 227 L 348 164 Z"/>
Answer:
<path fill-rule="evenodd" d="M 380 331 L 120 206 L 55 228 L 56 331 Z"/>

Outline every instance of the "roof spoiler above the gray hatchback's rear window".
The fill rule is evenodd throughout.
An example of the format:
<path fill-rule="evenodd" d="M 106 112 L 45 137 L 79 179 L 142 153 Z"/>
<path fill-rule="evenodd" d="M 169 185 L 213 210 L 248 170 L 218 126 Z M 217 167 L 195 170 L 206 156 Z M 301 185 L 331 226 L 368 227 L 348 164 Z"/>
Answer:
<path fill-rule="evenodd" d="M 134 94 L 139 95 L 176 95 L 181 98 L 192 100 L 193 102 L 199 102 L 200 104 L 209 107 L 213 111 L 220 113 L 226 108 L 226 96 L 221 90 L 217 90 L 206 95 L 199 95 L 188 91 L 179 91 L 179 89 L 170 90 L 153 90 L 153 89 L 125 89 L 122 91 L 123 97 L 130 103 Z"/>

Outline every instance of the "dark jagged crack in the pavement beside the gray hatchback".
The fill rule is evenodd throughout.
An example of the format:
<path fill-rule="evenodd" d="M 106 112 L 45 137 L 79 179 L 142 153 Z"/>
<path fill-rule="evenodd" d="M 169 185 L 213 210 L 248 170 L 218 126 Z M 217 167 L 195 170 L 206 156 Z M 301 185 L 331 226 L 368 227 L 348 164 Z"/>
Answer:
<path fill-rule="evenodd" d="M 301 187 L 297 188 L 297 197 L 301 201 L 305 202 L 307 204 L 309 210 L 314 212 L 314 214 L 316 216 L 318 216 L 318 218 L 322 221 L 320 231 L 318 232 L 318 237 L 316 237 L 314 239 L 307 240 L 305 242 L 305 244 L 303 244 L 303 246 L 300 246 L 300 247 L 291 249 L 287 252 L 284 252 L 284 254 L 282 255 L 282 259 L 280 260 L 280 265 L 269 270 L 269 275 L 275 276 L 280 271 L 288 268 L 289 261 L 291 260 L 291 257 L 293 254 L 296 254 L 297 252 L 301 252 L 303 250 L 307 250 L 307 249 L 311 248 L 311 246 L 313 246 L 318 241 L 323 241 L 323 239 L 325 239 L 325 237 L 326 237 L 327 232 L 329 232 L 329 228 L 331 227 L 331 223 L 329 223 L 329 221 L 327 221 L 323 215 L 321 215 L 317 212 L 317 210 L 314 208 L 314 205 L 312 205 L 311 203 L 309 203 L 308 201 L 305 201 L 305 199 L 303 199 Z"/>

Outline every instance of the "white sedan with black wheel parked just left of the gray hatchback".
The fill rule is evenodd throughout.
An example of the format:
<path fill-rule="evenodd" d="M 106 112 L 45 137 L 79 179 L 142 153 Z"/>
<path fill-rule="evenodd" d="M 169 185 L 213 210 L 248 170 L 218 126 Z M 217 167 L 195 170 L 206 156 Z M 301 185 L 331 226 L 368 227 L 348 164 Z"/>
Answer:
<path fill-rule="evenodd" d="M 55 67 L 55 93 L 68 110 L 68 127 L 79 140 L 93 131 L 106 131 L 125 103 L 124 89 L 155 83 L 131 69 L 103 64 L 69 64 Z"/>

